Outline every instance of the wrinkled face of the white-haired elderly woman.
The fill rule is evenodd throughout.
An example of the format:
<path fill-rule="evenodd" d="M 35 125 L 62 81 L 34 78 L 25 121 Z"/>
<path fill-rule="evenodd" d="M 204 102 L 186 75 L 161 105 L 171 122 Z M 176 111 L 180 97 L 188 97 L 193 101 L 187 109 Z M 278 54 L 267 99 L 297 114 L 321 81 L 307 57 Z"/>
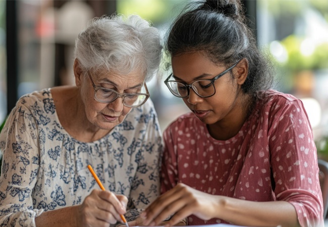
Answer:
<path fill-rule="evenodd" d="M 113 89 L 121 94 L 137 93 L 141 91 L 144 83 L 143 73 L 139 70 L 128 75 L 119 75 L 108 71 L 89 71 L 96 86 Z M 95 126 L 112 130 L 122 123 L 132 107 L 123 104 L 121 97 L 110 103 L 101 103 L 94 99 L 94 88 L 87 72 L 81 77 L 81 97 L 85 106 L 87 119 Z"/>

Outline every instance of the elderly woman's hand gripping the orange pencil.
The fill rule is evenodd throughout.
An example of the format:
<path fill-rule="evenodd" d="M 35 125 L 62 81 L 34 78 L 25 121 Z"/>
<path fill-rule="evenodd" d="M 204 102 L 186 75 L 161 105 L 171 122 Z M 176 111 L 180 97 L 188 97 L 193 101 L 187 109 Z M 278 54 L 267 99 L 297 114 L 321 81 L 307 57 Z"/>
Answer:
<path fill-rule="evenodd" d="M 77 226 L 110 226 L 122 221 L 120 214 L 126 212 L 128 198 L 112 192 L 93 190 L 79 205 Z"/>

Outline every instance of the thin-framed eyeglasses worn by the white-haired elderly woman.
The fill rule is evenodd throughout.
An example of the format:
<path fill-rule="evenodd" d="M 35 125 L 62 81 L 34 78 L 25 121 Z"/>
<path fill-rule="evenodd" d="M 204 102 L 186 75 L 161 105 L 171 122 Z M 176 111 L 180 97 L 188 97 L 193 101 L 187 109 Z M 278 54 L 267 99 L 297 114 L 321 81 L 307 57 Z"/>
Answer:
<path fill-rule="evenodd" d="M 115 90 L 96 86 L 93 83 L 90 72 L 89 71 L 87 71 L 87 72 L 88 72 L 89 78 L 91 80 L 93 89 L 94 89 L 94 99 L 98 102 L 111 103 L 111 102 L 114 102 L 117 98 L 121 97 L 123 105 L 128 106 L 128 107 L 139 107 L 139 106 L 143 105 L 149 98 L 149 92 L 148 92 L 146 83 L 144 83 L 144 86 L 145 86 L 147 93 L 120 94 L 119 92 L 117 92 Z"/>

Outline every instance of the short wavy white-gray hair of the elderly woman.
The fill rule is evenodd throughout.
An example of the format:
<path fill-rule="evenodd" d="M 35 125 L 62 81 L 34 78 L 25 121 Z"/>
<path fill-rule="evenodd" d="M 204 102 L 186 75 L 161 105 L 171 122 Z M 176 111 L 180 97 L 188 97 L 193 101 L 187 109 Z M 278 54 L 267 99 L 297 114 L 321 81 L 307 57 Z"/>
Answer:
<path fill-rule="evenodd" d="M 149 81 L 161 59 L 156 28 L 137 15 L 94 18 L 75 41 L 75 58 L 82 70 L 108 70 L 119 75 L 136 69 Z"/>

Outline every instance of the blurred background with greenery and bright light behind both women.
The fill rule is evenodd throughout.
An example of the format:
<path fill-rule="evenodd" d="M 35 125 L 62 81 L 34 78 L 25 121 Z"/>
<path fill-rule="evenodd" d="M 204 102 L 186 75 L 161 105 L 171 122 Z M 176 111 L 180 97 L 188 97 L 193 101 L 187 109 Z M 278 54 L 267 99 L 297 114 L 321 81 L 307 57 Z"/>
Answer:
<path fill-rule="evenodd" d="M 162 36 L 191 0 L 0 0 L 0 124 L 25 93 L 73 84 L 75 38 L 93 17 L 138 14 Z M 327 150 L 328 1 L 243 0 L 259 47 L 275 63 L 275 89 L 301 98 L 318 150 Z M 188 111 L 163 81 L 161 69 L 147 85 L 161 129 Z"/>

